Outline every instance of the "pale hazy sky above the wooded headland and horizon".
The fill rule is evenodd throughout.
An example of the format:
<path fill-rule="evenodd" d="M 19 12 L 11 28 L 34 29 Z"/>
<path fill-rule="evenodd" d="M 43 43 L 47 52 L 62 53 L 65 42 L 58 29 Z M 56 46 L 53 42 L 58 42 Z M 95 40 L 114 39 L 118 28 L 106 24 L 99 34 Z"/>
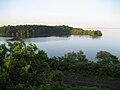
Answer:
<path fill-rule="evenodd" d="M 120 27 L 120 0 L 0 0 L 0 26 Z"/>

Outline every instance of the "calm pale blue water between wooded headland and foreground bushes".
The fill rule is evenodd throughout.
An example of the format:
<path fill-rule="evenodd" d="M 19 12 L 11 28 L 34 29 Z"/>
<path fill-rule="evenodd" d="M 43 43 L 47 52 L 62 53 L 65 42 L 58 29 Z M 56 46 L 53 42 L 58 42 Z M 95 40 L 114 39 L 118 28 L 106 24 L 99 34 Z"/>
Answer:
<path fill-rule="evenodd" d="M 95 60 L 95 55 L 100 50 L 106 50 L 120 57 L 120 29 L 101 29 L 101 38 L 86 36 L 70 37 L 37 37 L 25 39 L 26 43 L 35 43 L 39 49 L 47 52 L 49 57 L 63 56 L 65 53 L 82 50 L 90 60 Z M 0 44 L 9 38 L 0 37 Z"/>

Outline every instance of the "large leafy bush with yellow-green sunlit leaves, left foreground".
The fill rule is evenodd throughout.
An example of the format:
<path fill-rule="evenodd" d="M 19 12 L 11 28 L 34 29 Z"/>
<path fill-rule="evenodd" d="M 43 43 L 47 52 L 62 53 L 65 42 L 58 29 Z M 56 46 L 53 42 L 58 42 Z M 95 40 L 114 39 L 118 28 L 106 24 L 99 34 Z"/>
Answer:
<path fill-rule="evenodd" d="M 57 90 L 56 85 L 63 84 L 62 72 L 51 70 L 47 54 L 36 45 L 8 42 L 8 46 L 0 45 L 0 89 Z"/>

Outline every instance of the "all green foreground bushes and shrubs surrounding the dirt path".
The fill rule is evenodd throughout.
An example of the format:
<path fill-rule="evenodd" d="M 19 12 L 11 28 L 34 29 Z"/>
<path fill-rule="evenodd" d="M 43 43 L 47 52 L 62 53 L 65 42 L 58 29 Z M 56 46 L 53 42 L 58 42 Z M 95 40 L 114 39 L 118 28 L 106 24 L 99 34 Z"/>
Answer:
<path fill-rule="evenodd" d="M 97 53 L 98 61 L 89 61 L 84 52 L 48 58 L 36 45 L 24 41 L 0 45 L 1 90 L 108 90 L 65 83 L 70 75 L 120 80 L 120 61 L 107 51 Z"/>

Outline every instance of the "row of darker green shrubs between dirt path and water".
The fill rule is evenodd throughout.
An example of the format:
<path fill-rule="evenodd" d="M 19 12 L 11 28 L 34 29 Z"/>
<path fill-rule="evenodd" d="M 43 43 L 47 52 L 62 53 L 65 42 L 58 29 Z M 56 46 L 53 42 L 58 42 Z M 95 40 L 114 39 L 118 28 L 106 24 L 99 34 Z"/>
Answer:
<path fill-rule="evenodd" d="M 80 75 L 109 77 L 120 79 L 120 61 L 109 52 L 97 53 L 97 62 L 89 61 L 82 51 L 70 52 L 64 57 L 54 57 L 50 61 L 51 68 L 63 72 L 77 73 Z"/>

